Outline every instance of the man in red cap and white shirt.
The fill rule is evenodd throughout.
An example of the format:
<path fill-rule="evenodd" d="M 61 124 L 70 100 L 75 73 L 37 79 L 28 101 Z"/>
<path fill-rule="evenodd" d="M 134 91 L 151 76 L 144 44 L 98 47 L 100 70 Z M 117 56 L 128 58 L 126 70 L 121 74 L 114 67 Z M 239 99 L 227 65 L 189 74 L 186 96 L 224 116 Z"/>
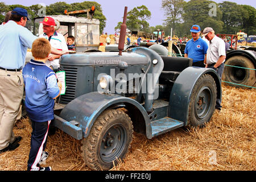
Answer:
<path fill-rule="evenodd" d="M 56 32 L 56 23 L 55 20 L 51 17 L 46 16 L 43 20 L 43 22 L 40 22 L 43 24 L 43 32 L 44 34 L 39 35 L 39 38 L 46 38 L 49 40 L 52 47 L 60 50 L 60 51 L 68 51 L 68 46 L 65 41 L 65 38 L 63 35 L 61 35 L 59 32 Z M 59 64 L 59 55 L 50 54 L 48 56 L 48 60 L 46 61 L 47 67 L 60 67 Z"/>

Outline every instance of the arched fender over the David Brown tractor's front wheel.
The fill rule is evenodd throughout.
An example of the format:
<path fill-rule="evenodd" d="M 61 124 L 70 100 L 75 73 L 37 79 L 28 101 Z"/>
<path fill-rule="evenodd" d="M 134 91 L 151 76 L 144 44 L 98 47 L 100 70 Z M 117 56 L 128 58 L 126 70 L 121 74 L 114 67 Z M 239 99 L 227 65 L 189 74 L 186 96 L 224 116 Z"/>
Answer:
<path fill-rule="evenodd" d="M 94 121 L 106 109 L 125 107 L 133 121 L 134 130 L 151 133 L 150 119 L 144 107 L 137 101 L 116 94 L 86 93 L 69 102 L 60 113 L 65 121 L 76 121 L 82 129 L 82 137 L 88 137 Z"/>

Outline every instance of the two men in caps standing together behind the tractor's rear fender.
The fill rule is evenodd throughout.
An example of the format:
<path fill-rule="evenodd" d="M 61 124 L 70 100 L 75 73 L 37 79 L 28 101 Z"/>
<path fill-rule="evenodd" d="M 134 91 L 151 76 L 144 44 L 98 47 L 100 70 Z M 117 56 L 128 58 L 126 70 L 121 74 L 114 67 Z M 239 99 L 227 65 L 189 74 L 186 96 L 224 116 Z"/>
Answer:
<path fill-rule="evenodd" d="M 190 31 L 192 39 L 186 44 L 184 57 L 192 58 L 193 66 L 214 69 L 221 78 L 226 59 L 224 40 L 215 35 L 213 28 L 204 28 L 202 36 L 209 41 L 208 46 L 208 43 L 200 37 L 200 26 L 193 25 Z M 221 107 L 221 98 L 217 98 L 216 109 L 221 110 Z"/>

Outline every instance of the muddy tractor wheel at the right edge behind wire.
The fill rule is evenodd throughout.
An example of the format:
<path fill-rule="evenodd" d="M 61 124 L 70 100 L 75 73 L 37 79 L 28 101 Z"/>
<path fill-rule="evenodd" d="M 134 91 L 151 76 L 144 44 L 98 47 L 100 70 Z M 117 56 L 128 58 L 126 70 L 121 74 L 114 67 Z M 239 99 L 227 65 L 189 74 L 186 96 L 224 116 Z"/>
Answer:
<path fill-rule="evenodd" d="M 223 80 L 232 82 L 234 84 L 226 83 L 230 86 L 236 86 L 239 88 L 246 88 L 247 86 L 254 86 L 256 83 L 256 72 L 252 69 L 255 69 L 253 63 L 251 60 L 249 60 L 247 57 L 244 56 L 233 56 L 230 57 L 225 62 L 226 66 L 224 68 L 223 73 Z M 234 67 L 230 67 L 230 66 Z M 244 68 L 238 68 L 238 67 L 244 67 L 244 68 L 251 68 L 251 69 L 244 69 Z M 239 84 L 239 85 L 236 85 Z M 246 85 L 246 86 L 242 86 Z"/>

